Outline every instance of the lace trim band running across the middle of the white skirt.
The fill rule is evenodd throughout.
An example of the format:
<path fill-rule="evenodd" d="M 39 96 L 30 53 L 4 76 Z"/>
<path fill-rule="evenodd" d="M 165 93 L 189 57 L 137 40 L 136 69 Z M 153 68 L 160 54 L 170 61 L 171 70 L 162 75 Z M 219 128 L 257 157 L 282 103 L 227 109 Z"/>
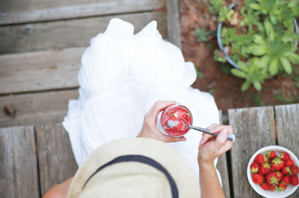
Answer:
<path fill-rule="evenodd" d="M 100 96 L 104 93 L 109 93 L 109 92 L 115 91 L 115 90 L 117 90 L 119 88 L 122 88 L 126 85 L 129 85 L 129 84 L 136 85 L 137 87 L 140 87 L 140 88 L 148 88 L 149 90 L 153 90 L 153 89 L 156 89 L 156 88 L 162 88 L 162 87 L 167 87 L 167 88 L 181 87 L 181 88 L 185 88 L 184 85 L 182 85 L 181 82 L 175 82 L 175 81 L 140 82 L 140 81 L 136 81 L 136 80 L 130 78 L 130 79 L 127 79 L 126 81 L 124 81 L 120 84 L 89 92 L 89 94 L 86 98 L 86 101 L 93 98 L 93 97 L 95 97 L 95 96 Z"/>

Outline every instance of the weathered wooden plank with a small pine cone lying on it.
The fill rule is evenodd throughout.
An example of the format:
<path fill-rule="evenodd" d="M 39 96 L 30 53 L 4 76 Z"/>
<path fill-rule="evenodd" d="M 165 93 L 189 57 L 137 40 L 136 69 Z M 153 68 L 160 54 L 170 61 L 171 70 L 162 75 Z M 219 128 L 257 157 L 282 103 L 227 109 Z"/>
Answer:
<path fill-rule="evenodd" d="M 0 127 L 61 122 L 68 109 L 68 100 L 78 97 L 77 89 L 2 96 Z M 15 106 L 15 116 L 6 115 L 4 105 Z"/>

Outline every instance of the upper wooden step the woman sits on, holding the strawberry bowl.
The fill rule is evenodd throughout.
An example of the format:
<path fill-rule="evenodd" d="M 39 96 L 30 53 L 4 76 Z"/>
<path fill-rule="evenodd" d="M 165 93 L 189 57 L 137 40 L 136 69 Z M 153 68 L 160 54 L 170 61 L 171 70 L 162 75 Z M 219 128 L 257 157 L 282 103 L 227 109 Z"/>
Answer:
<path fill-rule="evenodd" d="M 298 112 L 299 104 L 228 110 L 236 140 L 217 163 L 225 197 L 261 197 L 246 175 L 248 161 L 258 149 L 280 145 L 299 156 Z M 72 177 L 78 168 L 61 123 L 1 127 L 0 150 L 4 151 L 0 152 L 3 198 L 41 197 L 53 185 Z M 299 189 L 289 196 L 298 197 Z"/>

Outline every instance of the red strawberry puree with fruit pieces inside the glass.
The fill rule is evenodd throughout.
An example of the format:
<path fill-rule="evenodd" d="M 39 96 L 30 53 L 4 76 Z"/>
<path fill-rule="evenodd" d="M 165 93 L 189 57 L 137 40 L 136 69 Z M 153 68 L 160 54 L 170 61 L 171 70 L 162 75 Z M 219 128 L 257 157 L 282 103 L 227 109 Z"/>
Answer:
<path fill-rule="evenodd" d="M 167 120 L 170 119 L 170 120 L 173 120 L 173 121 L 176 121 L 176 117 L 179 117 L 179 118 L 183 118 L 185 119 L 189 124 L 191 124 L 191 116 L 190 114 L 187 112 L 187 110 L 185 110 L 184 108 L 182 107 L 173 107 L 171 109 L 169 109 L 163 116 L 163 120 L 162 120 L 162 124 L 163 124 L 163 127 L 165 129 L 165 131 L 167 133 L 169 133 L 170 135 L 173 135 L 173 136 L 182 136 L 184 135 L 185 133 L 188 132 L 189 129 L 186 129 L 184 131 L 177 131 L 177 130 L 174 130 L 176 127 L 173 127 L 173 129 L 171 129 L 168 124 L 167 124 Z M 179 125 L 178 125 L 179 126 Z"/>

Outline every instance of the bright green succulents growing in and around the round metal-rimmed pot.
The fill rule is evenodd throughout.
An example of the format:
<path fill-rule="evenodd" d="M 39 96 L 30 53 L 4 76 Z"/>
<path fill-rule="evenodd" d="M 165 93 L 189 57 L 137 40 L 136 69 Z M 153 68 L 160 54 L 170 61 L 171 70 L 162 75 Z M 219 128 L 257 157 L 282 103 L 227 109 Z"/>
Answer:
<path fill-rule="evenodd" d="M 229 10 L 224 5 L 220 7 L 219 22 L 231 20 L 234 13 Z M 221 40 L 240 67 L 231 73 L 246 79 L 242 91 L 251 84 L 261 90 L 261 83 L 280 71 L 292 74 L 292 63 L 299 65 L 299 55 L 294 53 L 298 50 L 294 45 L 299 38 L 294 32 L 294 18 L 299 16 L 299 0 L 245 0 L 240 14 L 241 28 L 237 31 L 234 27 L 222 27 Z M 226 59 L 219 54 L 215 52 L 214 59 L 224 62 Z"/>

